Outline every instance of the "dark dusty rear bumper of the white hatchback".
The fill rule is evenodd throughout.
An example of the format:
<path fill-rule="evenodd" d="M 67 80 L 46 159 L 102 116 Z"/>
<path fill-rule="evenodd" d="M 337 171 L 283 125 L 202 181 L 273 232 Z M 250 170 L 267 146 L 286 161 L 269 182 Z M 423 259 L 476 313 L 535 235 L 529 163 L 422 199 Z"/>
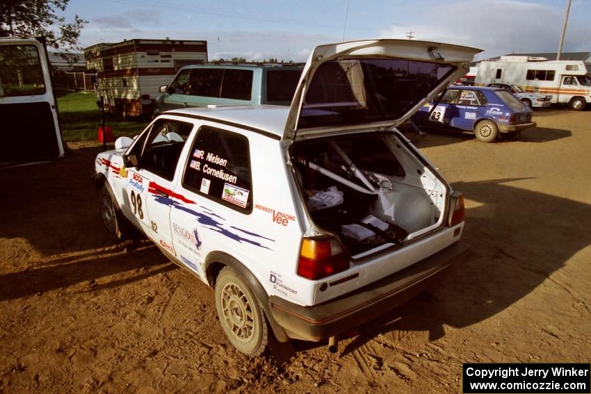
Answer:
<path fill-rule="evenodd" d="M 299 306 L 272 295 L 269 309 L 291 338 L 319 341 L 377 318 L 437 283 L 469 248 L 459 243 L 373 284 L 316 306 Z"/>

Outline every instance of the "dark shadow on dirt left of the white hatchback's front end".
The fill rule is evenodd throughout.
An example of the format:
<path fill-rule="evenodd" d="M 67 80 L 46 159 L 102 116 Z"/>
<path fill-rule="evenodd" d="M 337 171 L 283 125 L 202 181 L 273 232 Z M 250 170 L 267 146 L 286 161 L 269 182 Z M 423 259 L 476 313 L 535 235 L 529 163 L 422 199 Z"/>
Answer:
<path fill-rule="evenodd" d="M 1 168 L 0 238 L 26 238 L 43 256 L 112 245 L 92 178 L 101 150 L 70 149 L 63 160 Z"/>

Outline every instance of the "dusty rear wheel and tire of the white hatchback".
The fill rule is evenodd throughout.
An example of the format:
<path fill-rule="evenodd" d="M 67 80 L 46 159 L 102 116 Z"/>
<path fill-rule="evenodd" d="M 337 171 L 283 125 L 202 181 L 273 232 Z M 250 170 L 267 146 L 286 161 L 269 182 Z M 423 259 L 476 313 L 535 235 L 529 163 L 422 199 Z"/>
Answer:
<path fill-rule="evenodd" d="M 216 280 L 216 309 L 220 325 L 236 349 L 250 357 L 268 346 L 268 327 L 257 297 L 240 274 L 229 267 Z"/>

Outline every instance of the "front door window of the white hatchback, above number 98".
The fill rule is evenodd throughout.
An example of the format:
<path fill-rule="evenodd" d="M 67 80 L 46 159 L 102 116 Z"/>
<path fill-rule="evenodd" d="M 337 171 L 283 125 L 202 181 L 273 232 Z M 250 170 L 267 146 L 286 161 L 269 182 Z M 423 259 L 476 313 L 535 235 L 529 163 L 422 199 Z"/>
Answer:
<path fill-rule="evenodd" d="M 138 158 L 138 167 L 172 181 L 185 142 L 193 123 L 178 120 L 156 120 L 139 138 L 130 154 Z"/>

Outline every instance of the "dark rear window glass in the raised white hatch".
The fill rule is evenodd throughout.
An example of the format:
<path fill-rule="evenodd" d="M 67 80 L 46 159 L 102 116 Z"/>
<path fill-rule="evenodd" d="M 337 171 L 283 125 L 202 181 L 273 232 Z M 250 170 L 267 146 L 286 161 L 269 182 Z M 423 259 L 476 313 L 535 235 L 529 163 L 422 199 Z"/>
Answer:
<path fill-rule="evenodd" d="M 300 129 L 394 120 L 424 99 L 455 67 L 418 60 L 330 60 L 306 92 Z"/>

